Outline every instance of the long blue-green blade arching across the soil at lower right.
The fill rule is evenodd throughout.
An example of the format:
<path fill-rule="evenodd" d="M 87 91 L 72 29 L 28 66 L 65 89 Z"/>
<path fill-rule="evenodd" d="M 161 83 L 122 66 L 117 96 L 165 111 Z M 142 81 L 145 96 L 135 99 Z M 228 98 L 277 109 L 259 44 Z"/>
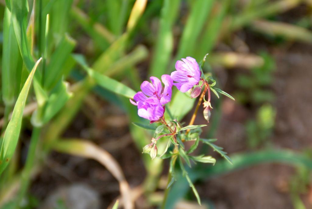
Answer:
<path fill-rule="evenodd" d="M 312 161 L 310 158 L 293 152 L 290 150 L 262 150 L 252 153 L 241 153 L 231 156 L 233 165 L 226 160 L 219 160 L 214 166 L 202 168 L 201 166 L 195 169 L 188 169 L 189 177 L 192 181 L 197 179 L 208 179 L 215 176 L 221 176 L 238 169 L 243 169 L 249 166 L 256 166 L 262 163 L 281 163 L 290 166 L 304 166 L 312 170 Z M 171 188 L 165 208 L 174 208 L 176 202 L 188 192 L 189 183 L 186 179 L 177 175 L 177 181 Z"/>

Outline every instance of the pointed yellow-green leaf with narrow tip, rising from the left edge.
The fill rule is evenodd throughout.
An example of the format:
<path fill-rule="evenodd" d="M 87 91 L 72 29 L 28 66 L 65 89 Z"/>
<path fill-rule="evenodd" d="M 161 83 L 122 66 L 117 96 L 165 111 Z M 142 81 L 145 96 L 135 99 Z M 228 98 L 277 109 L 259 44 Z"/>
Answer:
<path fill-rule="evenodd" d="M 21 90 L 17 98 L 17 101 L 15 103 L 14 109 L 13 109 L 12 118 L 10 122 L 8 123 L 7 129 L 4 133 L 3 141 L 1 144 L 1 150 L 0 150 L 0 174 L 8 165 L 9 161 L 11 160 L 14 154 L 17 141 L 18 141 L 18 137 L 21 131 L 22 117 L 23 117 L 23 111 L 24 111 L 27 95 L 31 87 L 32 79 L 34 77 L 34 74 L 36 72 L 36 69 L 41 59 L 42 58 L 40 58 L 35 63 L 31 73 L 29 74 Z"/>

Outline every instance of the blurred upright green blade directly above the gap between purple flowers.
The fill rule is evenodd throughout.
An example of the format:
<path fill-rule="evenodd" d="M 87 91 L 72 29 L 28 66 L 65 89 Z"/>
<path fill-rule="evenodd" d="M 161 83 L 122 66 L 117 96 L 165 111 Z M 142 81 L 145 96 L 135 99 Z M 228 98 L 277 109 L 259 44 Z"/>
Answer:
<path fill-rule="evenodd" d="M 166 73 L 173 50 L 173 24 L 180 8 L 180 0 L 165 0 L 161 9 L 157 41 L 154 44 L 150 76 L 161 77 Z"/>

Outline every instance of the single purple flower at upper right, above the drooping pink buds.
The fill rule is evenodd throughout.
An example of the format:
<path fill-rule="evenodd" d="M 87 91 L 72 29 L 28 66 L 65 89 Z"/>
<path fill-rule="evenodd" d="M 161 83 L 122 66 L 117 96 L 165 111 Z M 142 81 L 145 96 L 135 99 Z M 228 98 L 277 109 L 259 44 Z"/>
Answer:
<path fill-rule="evenodd" d="M 177 71 L 171 73 L 171 78 L 177 83 L 173 83 L 181 92 L 187 92 L 200 80 L 200 69 L 198 63 L 193 57 L 182 58 L 183 62 L 178 60 L 175 68 Z"/>

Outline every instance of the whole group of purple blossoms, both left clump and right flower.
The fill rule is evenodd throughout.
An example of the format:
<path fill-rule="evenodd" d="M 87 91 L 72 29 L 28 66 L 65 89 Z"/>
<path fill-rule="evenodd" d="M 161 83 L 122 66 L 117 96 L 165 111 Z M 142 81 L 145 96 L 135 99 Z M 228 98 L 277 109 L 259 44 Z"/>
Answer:
<path fill-rule="evenodd" d="M 171 75 L 162 75 L 161 80 L 157 77 L 150 77 L 152 83 L 144 81 L 141 84 L 140 92 L 137 92 L 130 102 L 138 106 L 138 115 L 152 122 L 163 117 L 165 104 L 171 101 L 172 86 L 179 91 L 187 92 L 195 85 L 198 85 L 201 78 L 201 71 L 198 63 L 193 57 L 183 58 L 175 64 L 176 71 Z"/>

